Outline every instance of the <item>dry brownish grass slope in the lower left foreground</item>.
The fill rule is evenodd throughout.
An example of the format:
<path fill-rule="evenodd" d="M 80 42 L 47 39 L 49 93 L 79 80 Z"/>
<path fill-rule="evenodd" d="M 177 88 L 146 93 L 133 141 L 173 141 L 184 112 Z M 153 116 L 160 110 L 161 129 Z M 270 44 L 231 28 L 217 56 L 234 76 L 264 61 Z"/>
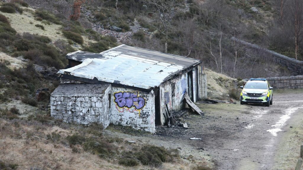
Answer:
<path fill-rule="evenodd" d="M 40 113 L 41 114 L 41 113 Z M 57 124 L 57 125 L 56 125 Z M 96 133 L 100 127 L 56 123 L 54 120 L 43 123 L 31 119 L 0 118 L 0 160 L 18 164 L 17 169 L 150 169 L 151 166 L 135 163 L 135 167 L 119 165 L 123 151 L 140 151 L 144 143 L 130 143 L 125 139 L 103 136 Z M 86 149 L 85 143 L 69 143 L 72 135 L 85 136 L 86 142 L 105 142 L 114 152 L 102 157 L 94 149 Z M 98 136 L 95 136 L 98 134 Z M 101 136 L 100 136 L 101 135 Z M 93 145 L 92 145 L 93 146 Z M 94 147 L 94 146 L 93 146 Z M 108 147 L 106 147 L 108 148 Z M 172 161 L 172 160 L 170 160 Z M 121 161 L 120 161 L 121 163 Z M 127 163 L 126 163 L 127 164 Z M 132 162 L 132 165 L 134 162 Z M 178 162 L 165 162 L 153 169 L 186 169 Z"/>

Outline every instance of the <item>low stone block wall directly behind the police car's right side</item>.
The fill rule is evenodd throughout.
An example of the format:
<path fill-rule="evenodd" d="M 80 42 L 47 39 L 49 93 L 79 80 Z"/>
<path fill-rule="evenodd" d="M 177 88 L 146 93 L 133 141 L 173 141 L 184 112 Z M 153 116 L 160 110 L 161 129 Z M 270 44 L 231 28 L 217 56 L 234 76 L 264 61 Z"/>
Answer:
<path fill-rule="evenodd" d="M 291 77 L 271 77 L 266 78 L 271 85 L 276 89 L 282 88 L 303 88 L 303 76 L 291 76 Z"/>

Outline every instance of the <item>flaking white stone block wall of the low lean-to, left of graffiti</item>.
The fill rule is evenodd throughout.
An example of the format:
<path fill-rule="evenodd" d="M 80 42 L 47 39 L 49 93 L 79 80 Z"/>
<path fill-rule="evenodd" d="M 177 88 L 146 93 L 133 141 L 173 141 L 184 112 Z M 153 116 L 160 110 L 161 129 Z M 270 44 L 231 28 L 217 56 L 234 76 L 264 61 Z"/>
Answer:
<path fill-rule="evenodd" d="M 67 86 L 79 85 L 68 84 Z M 78 88 L 81 90 L 81 87 Z M 85 125 L 101 123 L 106 128 L 110 123 L 108 94 L 111 92 L 111 87 L 108 86 L 106 90 L 101 91 L 104 93 L 83 94 L 75 91 L 75 93 L 62 94 L 54 91 L 50 101 L 51 116 L 67 123 L 75 122 Z"/>

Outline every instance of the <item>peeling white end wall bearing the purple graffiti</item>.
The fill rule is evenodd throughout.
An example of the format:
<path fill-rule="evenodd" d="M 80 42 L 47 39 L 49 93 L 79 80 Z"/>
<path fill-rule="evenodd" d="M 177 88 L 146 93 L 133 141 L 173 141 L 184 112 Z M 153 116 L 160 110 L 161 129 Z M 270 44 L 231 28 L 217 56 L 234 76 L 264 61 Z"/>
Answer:
<path fill-rule="evenodd" d="M 129 96 L 130 93 L 134 94 L 133 97 Z M 128 99 L 129 97 L 132 99 Z M 140 104 L 135 101 L 142 101 L 142 99 L 144 99 L 144 106 L 142 106 L 142 103 Z M 134 129 L 155 133 L 154 91 L 148 93 L 140 90 L 112 87 L 110 110 L 111 123 L 131 126 Z"/>

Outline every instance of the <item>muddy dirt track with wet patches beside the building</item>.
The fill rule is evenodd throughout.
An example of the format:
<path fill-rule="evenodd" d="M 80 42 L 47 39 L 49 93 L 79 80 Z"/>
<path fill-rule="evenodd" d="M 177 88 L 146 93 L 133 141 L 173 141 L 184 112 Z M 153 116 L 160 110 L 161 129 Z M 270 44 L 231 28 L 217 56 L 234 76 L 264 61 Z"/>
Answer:
<path fill-rule="evenodd" d="M 204 116 L 183 117 L 188 127 L 193 129 L 158 126 L 153 136 L 125 137 L 179 148 L 181 158 L 185 161 L 202 162 L 219 170 L 295 167 L 297 152 L 300 150 L 299 140 L 302 139 L 301 134 L 297 134 L 303 132 L 302 90 L 274 93 L 274 103 L 270 107 L 206 103 L 197 105 L 205 112 Z M 292 133 L 296 134 L 298 140 L 288 142 L 287 138 L 294 136 Z M 194 136 L 202 140 L 188 139 Z M 292 151 L 292 148 L 297 150 Z"/>

